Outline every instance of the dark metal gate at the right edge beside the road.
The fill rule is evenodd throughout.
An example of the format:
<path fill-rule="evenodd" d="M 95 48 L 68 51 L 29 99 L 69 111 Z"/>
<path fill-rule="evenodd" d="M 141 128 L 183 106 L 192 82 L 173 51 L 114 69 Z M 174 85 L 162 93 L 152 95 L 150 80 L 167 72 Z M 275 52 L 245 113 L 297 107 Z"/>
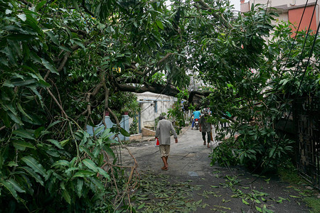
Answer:
<path fill-rule="evenodd" d="M 320 188 L 320 97 L 295 99 L 294 123 L 297 128 L 299 173 Z"/>

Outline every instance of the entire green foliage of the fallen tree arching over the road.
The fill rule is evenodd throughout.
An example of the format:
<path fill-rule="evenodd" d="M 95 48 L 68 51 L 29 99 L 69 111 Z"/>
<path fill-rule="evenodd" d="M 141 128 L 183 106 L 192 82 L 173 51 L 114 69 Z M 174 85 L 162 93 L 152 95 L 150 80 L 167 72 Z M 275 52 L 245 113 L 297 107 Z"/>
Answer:
<path fill-rule="evenodd" d="M 299 33 L 289 55 L 291 30 L 273 26 L 269 12 L 236 16 L 228 1 L 0 0 L 1 209 L 129 208 L 122 201 L 132 177 L 115 152 L 121 141 L 110 139 L 110 129 L 89 136 L 85 126 L 106 111 L 115 121 L 127 109 L 135 116 L 138 103 L 127 92 L 146 91 L 177 96 L 170 113 L 182 126 L 190 75 L 208 85 L 203 103 L 213 121 L 232 115 L 228 131 L 240 136 L 230 141 L 230 161 L 277 165 L 292 145 L 274 124 L 292 96 L 319 92 L 320 48 L 317 39 L 305 69 L 314 35 L 301 54 L 306 36 Z M 217 149 L 213 163 L 224 152 Z"/>

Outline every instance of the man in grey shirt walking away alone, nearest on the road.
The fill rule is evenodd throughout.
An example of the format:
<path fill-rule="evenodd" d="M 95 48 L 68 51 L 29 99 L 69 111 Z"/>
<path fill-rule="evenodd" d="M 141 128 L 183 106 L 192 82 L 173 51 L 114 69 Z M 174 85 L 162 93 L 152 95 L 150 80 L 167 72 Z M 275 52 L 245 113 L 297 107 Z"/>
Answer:
<path fill-rule="evenodd" d="M 162 161 L 164 161 L 164 167 L 162 170 L 168 170 L 168 157 L 170 153 L 170 133 L 174 134 L 174 139 L 178 143 L 178 136 L 174 131 L 171 121 L 168 121 L 164 116 L 159 116 L 159 122 L 156 126 L 156 138 L 159 139 L 159 149 Z"/>

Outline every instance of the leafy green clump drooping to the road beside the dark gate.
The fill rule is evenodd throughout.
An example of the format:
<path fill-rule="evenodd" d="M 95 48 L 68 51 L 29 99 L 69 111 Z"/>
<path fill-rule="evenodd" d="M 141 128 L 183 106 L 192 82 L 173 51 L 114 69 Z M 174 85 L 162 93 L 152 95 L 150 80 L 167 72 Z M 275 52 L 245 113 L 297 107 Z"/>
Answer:
<path fill-rule="evenodd" d="M 275 14 L 266 13 L 265 9 L 252 9 L 241 18 L 240 23 L 245 25 L 239 24 L 238 33 L 227 32 L 212 39 L 210 47 L 218 50 L 214 55 L 210 50 L 205 54 L 201 72 L 212 87 L 210 107 L 215 118 L 230 124 L 227 129 L 217 126 L 218 140 L 225 141 L 228 133 L 231 136 L 215 149 L 211 155 L 213 163 L 240 163 L 255 172 L 275 170 L 294 155 L 295 146 L 292 138 L 277 131 L 279 121 L 283 120 L 285 125 L 292 120 L 294 98 L 319 97 L 319 38 L 302 31 L 297 33 L 294 43 L 289 24 L 273 26 L 272 15 Z M 250 43 L 237 43 L 248 37 Z M 308 64 L 314 41 L 313 58 Z M 240 44 L 242 48 L 237 50 Z M 252 58 L 245 57 L 246 50 L 252 51 Z M 223 115 L 226 111 L 232 115 L 230 119 Z"/>

